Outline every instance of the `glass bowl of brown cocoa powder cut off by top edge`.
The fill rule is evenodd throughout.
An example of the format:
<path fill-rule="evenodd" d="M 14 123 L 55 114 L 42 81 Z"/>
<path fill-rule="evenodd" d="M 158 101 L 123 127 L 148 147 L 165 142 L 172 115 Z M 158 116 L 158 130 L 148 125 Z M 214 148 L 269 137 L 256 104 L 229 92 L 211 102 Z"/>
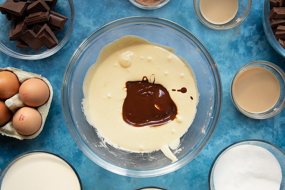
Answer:
<path fill-rule="evenodd" d="M 141 9 L 158 9 L 166 5 L 170 0 L 129 0 Z"/>

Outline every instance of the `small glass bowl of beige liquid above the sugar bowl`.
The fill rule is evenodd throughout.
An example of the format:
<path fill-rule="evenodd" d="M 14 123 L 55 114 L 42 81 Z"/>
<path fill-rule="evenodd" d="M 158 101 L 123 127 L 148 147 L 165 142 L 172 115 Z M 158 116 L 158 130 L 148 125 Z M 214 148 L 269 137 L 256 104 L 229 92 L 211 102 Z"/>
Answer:
<path fill-rule="evenodd" d="M 231 82 L 231 99 L 244 115 L 266 119 L 285 106 L 285 74 L 273 63 L 255 61 L 243 66 Z"/>

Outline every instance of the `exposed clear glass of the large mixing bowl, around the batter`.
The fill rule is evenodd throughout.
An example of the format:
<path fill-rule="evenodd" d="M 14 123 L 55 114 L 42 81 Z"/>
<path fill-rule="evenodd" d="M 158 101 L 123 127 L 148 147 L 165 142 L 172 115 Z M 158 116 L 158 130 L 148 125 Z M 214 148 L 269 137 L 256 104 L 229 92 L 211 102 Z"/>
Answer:
<path fill-rule="evenodd" d="M 82 111 L 83 81 L 98 53 L 125 35 L 176 49 L 192 67 L 200 93 L 197 113 L 172 161 L 160 151 L 133 153 L 102 146 L 102 139 L 89 125 Z M 184 27 L 158 17 L 134 16 L 108 23 L 87 37 L 74 52 L 64 73 L 62 109 L 68 130 L 76 144 L 93 162 L 114 173 L 131 177 L 153 177 L 170 173 L 194 159 L 210 140 L 222 106 L 222 85 L 218 68 L 202 42 Z"/>

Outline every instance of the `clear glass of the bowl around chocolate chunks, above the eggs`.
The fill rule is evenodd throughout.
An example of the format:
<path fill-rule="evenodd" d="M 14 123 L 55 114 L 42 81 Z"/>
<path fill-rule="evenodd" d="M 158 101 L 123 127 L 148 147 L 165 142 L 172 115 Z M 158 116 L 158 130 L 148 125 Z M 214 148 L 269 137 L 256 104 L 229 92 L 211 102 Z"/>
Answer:
<path fill-rule="evenodd" d="M 8 21 L 5 15 L 0 15 L 0 50 L 9 56 L 24 60 L 43 59 L 58 52 L 69 40 L 74 28 L 75 13 L 73 1 L 58 0 L 53 10 L 68 17 L 63 30 L 54 31 L 54 34 L 58 39 L 57 46 L 51 49 L 42 47 L 38 51 L 35 51 L 30 46 L 28 49 L 16 47 L 17 41 L 9 41 L 9 31 L 12 28 L 11 21 Z"/>

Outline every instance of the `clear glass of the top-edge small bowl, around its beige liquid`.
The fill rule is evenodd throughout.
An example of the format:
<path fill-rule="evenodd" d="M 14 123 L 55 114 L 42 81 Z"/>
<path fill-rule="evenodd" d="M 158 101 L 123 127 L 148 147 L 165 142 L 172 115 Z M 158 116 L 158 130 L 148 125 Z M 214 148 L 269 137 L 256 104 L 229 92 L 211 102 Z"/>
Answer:
<path fill-rule="evenodd" d="M 200 0 L 193 0 L 194 9 L 198 19 L 203 23 L 205 26 L 215 29 L 215 30 L 226 30 L 230 28 L 234 28 L 235 26 L 241 24 L 248 16 L 251 10 L 252 0 L 239 0 L 239 8 L 237 10 L 237 14 L 235 17 L 225 24 L 213 24 L 207 21 L 201 11 L 200 11 Z"/>

